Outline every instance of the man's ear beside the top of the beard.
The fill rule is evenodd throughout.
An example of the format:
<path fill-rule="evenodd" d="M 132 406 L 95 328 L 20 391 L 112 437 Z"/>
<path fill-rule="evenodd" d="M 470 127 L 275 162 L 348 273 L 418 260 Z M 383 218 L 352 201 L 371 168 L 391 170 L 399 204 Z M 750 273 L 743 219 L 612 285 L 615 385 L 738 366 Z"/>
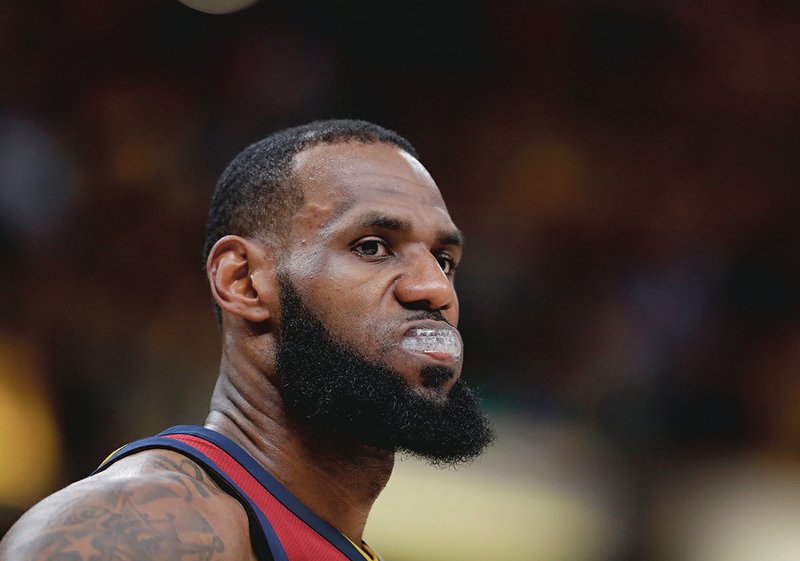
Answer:
<path fill-rule="evenodd" d="M 208 255 L 206 273 L 223 312 L 254 323 L 274 316 L 278 300 L 275 257 L 264 244 L 240 236 L 220 238 Z"/>

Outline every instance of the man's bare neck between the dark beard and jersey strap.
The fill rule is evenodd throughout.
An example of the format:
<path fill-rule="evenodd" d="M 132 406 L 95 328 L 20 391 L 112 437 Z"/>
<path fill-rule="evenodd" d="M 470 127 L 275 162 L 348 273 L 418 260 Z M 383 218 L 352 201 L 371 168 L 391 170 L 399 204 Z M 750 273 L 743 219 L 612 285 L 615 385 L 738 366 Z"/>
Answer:
<path fill-rule="evenodd" d="M 271 374 L 223 352 L 205 426 L 239 444 L 317 516 L 361 543 L 394 454 L 311 432 L 287 415 Z"/>

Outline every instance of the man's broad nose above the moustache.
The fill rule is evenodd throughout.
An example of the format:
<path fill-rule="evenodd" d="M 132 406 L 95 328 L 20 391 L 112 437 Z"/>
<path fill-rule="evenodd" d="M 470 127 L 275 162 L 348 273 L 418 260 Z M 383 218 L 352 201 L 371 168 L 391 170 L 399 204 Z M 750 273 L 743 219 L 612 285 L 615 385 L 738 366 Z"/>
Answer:
<path fill-rule="evenodd" d="M 428 252 L 415 256 L 395 283 L 395 297 L 406 308 L 448 310 L 456 304 L 451 279 Z"/>

